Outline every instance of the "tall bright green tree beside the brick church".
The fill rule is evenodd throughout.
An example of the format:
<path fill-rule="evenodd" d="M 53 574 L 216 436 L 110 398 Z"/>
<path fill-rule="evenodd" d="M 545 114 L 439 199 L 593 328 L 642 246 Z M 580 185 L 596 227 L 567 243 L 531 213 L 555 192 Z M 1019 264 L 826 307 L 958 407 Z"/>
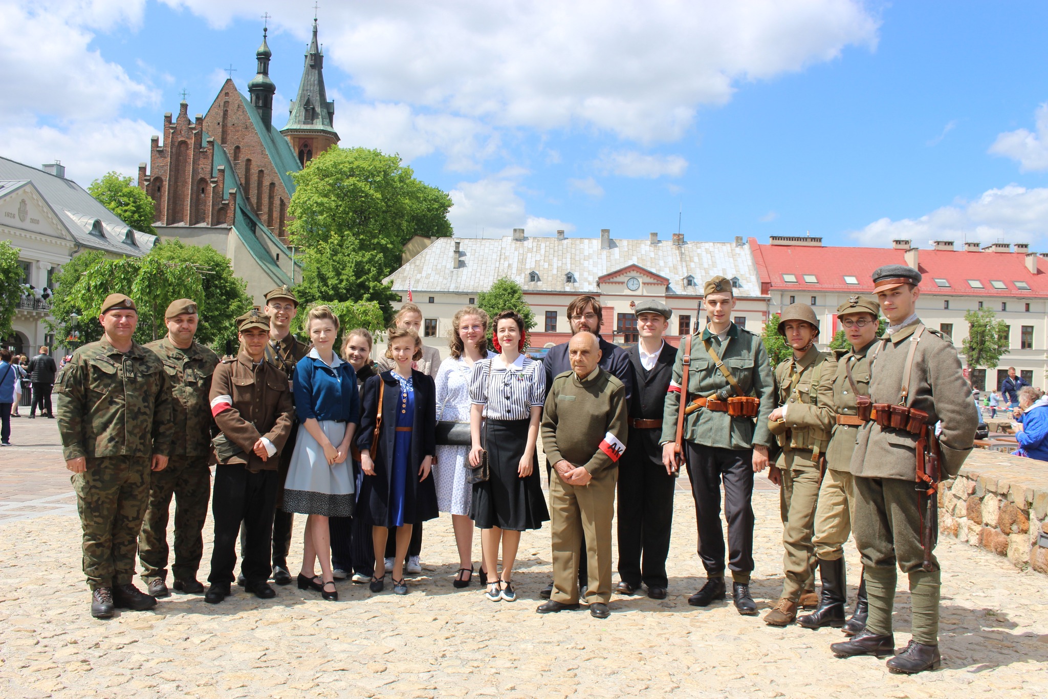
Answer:
<path fill-rule="evenodd" d="M 372 301 L 388 319 L 395 296 L 381 280 L 412 236 L 452 235 L 451 197 L 415 179 L 399 156 L 366 148 L 330 148 L 292 176 L 289 233 L 303 265 L 296 293 Z"/>

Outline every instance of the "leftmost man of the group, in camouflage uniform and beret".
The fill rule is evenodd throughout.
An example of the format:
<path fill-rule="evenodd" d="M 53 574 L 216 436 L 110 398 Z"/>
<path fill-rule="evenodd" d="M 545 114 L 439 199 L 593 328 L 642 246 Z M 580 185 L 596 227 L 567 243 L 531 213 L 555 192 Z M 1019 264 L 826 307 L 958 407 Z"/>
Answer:
<path fill-rule="evenodd" d="M 150 473 L 171 454 L 171 394 L 163 363 L 132 337 L 134 301 L 110 293 L 99 314 L 105 334 L 77 349 L 59 373 L 58 423 L 84 530 L 91 615 L 115 607 L 152 609 L 132 583 Z"/>

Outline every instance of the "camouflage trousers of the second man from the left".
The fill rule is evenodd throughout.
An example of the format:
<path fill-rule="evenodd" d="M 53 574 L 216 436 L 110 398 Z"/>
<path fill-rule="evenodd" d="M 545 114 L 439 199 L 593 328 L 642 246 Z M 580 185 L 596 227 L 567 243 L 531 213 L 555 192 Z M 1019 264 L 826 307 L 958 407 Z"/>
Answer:
<path fill-rule="evenodd" d="M 138 561 L 147 584 L 168 578 L 168 517 L 175 500 L 176 581 L 195 580 L 203 555 L 203 523 L 211 499 L 211 469 L 208 456 L 173 456 L 168 467 L 153 474 L 149 486 L 149 508 L 138 534 Z"/>

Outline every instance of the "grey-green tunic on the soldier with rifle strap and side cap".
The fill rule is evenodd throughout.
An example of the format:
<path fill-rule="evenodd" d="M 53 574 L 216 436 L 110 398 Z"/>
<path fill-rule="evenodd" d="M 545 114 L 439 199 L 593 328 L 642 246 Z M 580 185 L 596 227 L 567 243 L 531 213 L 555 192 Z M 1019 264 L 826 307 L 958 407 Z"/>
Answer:
<path fill-rule="evenodd" d="M 771 445 L 768 432 L 768 416 L 774 409 L 774 378 L 771 364 L 761 338 L 735 323 L 727 330 L 727 337 L 721 344 L 720 337 L 703 330 L 701 335 L 692 336 L 692 367 L 687 380 L 687 399 L 715 394 L 727 386 L 724 374 L 716 367 L 714 359 L 702 345 L 711 338 L 714 351 L 724 362 L 724 366 L 735 376 L 745 395 L 754 395 L 761 401 L 756 424 L 751 417 L 732 417 L 727 413 L 699 409 L 684 418 L 683 438 L 703 446 L 723 449 L 751 449 L 755 444 Z M 662 438 L 659 443 L 672 442 L 677 433 L 677 412 L 680 408 L 680 381 L 684 367 L 684 345 L 677 351 L 673 364 L 673 381 L 662 414 Z"/>

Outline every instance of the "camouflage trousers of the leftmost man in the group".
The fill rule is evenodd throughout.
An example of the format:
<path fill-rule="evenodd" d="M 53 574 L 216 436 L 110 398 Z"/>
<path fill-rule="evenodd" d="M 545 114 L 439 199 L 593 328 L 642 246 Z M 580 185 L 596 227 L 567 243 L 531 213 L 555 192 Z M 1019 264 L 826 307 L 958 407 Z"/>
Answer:
<path fill-rule="evenodd" d="M 84 530 L 84 574 L 93 590 L 134 577 L 138 530 L 149 500 L 150 457 L 88 458 L 73 474 L 77 510 Z"/>

